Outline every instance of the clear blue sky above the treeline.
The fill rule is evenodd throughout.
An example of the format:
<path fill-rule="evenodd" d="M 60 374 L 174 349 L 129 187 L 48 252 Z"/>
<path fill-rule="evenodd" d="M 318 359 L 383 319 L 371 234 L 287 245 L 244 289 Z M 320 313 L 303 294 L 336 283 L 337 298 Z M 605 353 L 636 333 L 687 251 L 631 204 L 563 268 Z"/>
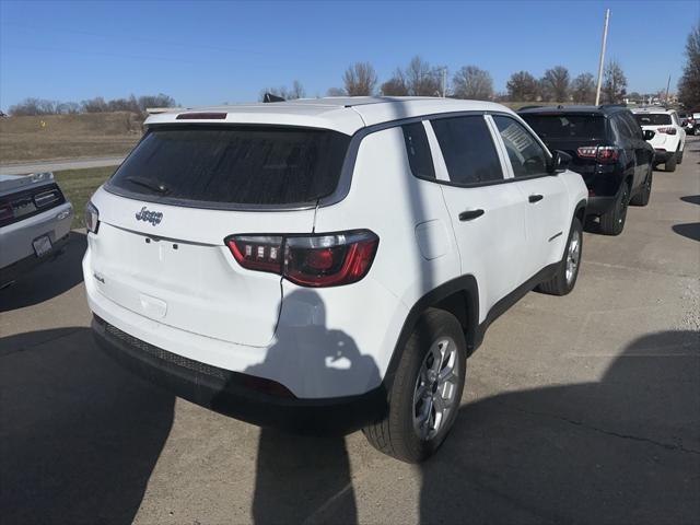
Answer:
<path fill-rule="evenodd" d="M 353 61 L 381 80 L 420 55 L 451 72 L 563 65 L 595 74 L 609 7 L 608 57 L 628 91 L 672 90 L 698 1 L 62 2 L 0 0 L 0 107 L 163 92 L 184 105 L 244 102 L 299 79 L 307 96 L 340 86 Z"/>

